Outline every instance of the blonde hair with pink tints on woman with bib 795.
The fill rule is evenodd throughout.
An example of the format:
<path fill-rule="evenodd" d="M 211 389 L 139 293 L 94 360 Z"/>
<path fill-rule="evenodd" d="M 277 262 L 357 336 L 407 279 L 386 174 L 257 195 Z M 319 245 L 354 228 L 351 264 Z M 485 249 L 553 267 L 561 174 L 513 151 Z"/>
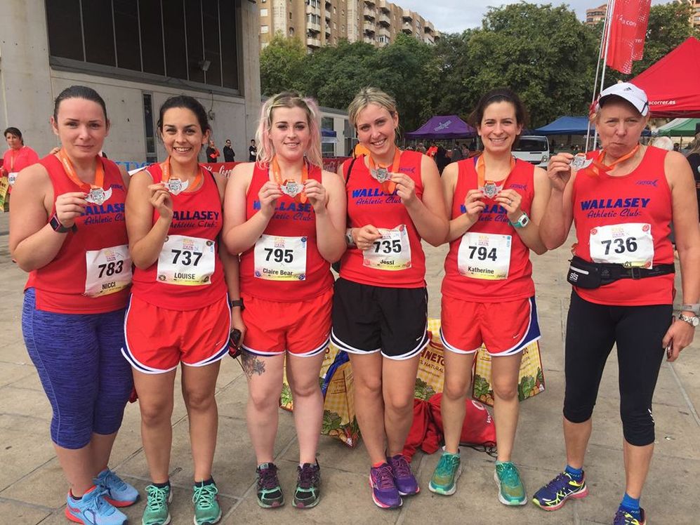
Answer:
<path fill-rule="evenodd" d="M 278 107 L 290 109 L 300 107 L 306 112 L 310 140 L 305 155 L 314 166 L 323 166 L 319 107 L 315 100 L 302 97 L 295 91 L 283 91 L 282 93 L 277 93 L 277 95 L 272 95 L 268 100 L 265 100 L 262 109 L 260 109 L 260 122 L 256 131 L 256 144 L 258 145 L 257 163 L 262 165 L 270 164 L 272 157 L 275 157 L 275 147 L 272 146 L 272 139 L 270 139 L 270 128 L 272 128 L 272 111 Z"/>

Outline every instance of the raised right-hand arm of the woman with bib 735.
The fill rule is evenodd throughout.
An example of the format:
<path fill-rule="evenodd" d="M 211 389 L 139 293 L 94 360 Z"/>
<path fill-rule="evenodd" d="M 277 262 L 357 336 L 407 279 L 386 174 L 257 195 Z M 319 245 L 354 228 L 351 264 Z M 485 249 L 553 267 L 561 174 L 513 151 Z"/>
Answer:
<path fill-rule="evenodd" d="M 407 175 L 401 176 L 408 178 Z M 418 199 L 416 194 L 411 192 L 407 199 L 402 197 L 402 201 L 421 238 L 432 246 L 440 246 L 447 239 L 449 221 L 445 212 L 440 173 L 437 171 L 435 161 L 426 155 L 421 159 L 421 180 L 423 181 L 423 199 Z"/>

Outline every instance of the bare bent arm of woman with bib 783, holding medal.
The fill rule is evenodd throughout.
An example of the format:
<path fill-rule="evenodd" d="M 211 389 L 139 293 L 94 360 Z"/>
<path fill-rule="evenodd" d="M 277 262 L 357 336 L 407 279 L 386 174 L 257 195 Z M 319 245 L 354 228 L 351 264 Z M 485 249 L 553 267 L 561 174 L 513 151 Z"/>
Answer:
<path fill-rule="evenodd" d="M 67 233 L 54 232 L 48 224 L 53 186 L 46 168 L 34 164 L 23 169 L 12 190 L 9 247 L 13 259 L 25 272 L 48 265 L 63 246 Z M 85 194 L 58 196 L 56 211 L 61 224 L 70 227 L 85 208 Z"/>

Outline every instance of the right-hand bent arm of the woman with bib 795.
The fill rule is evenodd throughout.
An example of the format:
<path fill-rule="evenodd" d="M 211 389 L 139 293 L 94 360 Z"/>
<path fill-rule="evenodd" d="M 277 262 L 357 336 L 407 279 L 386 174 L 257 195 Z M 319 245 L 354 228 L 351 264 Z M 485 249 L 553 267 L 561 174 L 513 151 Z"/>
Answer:
<path fill-rule="evenodd" d="M 345 252 L 346 199 L 343 180 L 329 171 L 322 172 L 325 204 L 314 206 L 316 243 L 319 253 L 328 262 L 336 262 Z M 311 197 L 310 197 L 311 199 Z M 319 203 L 322 204 L 322 203 Z"/>

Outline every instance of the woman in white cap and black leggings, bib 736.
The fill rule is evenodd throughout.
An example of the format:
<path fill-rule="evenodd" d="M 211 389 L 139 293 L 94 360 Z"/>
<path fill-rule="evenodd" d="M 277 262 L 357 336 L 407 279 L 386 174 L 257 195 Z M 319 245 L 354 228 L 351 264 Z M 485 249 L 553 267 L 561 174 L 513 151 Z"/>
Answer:
<path fill-rule="evenodd" d="M 639 143 L 649 119 L 647 95 L 629 83 L 600 93 L 595 126 L 602 149 L 552 157 L 552 192 L 540 222 L 549 249 L 576 227 L 567 279 L 574 285 L 567 320 L 564 472 L 535 493 L 557 510 L 588 494 L 583 458 L 605 361 L 617 346 L 626 491 L 614 525 L 642 525 L 639 505 L 654 449 L 652 397 L 666 352 L 678 358 L 692 343 L 700 313 L 700 229 L 690 167 L 680 153 Z M 673 320 L 675 228 L 682 269 L 682 307 Z M 640 279 L 643 282 L 640 282 Z"/>

